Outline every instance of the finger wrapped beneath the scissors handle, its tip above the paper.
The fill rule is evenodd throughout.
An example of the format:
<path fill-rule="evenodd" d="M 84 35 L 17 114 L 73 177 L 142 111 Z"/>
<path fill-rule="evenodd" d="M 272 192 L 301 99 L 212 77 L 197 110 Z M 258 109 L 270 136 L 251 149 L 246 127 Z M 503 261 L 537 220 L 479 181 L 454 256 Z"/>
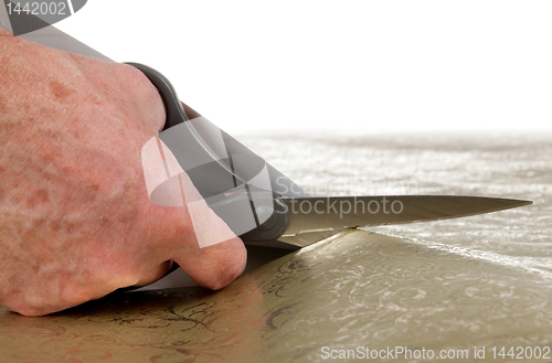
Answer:
<path fill-rule="evenodd" d="M 163 259 L 177 261 L 198 285 L 220 289 L 245 268 L 243 242 L 209 207 L 172 152 L 155 139 L 142 149 L 142 162 L 151 206 L 167 227 Z"/>

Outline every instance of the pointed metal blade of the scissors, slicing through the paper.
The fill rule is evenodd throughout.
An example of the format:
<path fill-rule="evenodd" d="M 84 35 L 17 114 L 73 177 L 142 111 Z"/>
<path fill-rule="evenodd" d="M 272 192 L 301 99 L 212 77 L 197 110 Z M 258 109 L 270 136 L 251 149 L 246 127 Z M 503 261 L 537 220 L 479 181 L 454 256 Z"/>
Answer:
<path fill-rule="evenodd" d="M 351 227 L 449 220 L 532 204 L 460 195 L 312 196 L 284 201 L 290 222 L 278 241 L 301 247 Z"/>

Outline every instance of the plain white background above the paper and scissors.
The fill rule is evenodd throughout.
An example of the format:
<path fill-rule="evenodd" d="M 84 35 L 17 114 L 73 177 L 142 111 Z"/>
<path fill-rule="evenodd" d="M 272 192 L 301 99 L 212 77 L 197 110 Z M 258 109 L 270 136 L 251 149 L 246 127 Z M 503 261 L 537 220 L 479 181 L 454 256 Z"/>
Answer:
<path fill-rule="evenodd" d="M 56 26 L 231 134 L 552 130 L 552 1 L 88 0 Z"/>

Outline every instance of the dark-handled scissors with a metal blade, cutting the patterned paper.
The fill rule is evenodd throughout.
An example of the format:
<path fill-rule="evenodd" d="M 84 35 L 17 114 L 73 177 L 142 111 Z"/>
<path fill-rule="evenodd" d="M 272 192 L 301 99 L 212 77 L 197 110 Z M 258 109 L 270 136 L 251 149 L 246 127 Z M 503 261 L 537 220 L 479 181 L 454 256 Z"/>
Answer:
<path fill-rule="evenodd" d="M 127 64 L 141 71 L 161 95 L 167 120 L 160 140 L 208 205 L 246 244 L 302 248 L 357 227 L 448 220 L 532 204 L 465 195 L 311 196 L 180 102 L 161 73 Z M 168 274 L 178 267 L 173 264 Z M 129 289 L 134 287 L 119 290 Z"/>

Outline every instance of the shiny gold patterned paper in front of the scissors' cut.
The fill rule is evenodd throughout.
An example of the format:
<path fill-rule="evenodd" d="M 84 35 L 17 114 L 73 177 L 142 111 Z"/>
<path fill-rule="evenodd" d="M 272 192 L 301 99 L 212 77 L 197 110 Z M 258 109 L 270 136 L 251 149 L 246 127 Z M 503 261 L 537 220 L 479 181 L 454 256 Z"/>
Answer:
<path fill-rule="evenodd" d="M 463 349 L 470 354 L 463 362 L 496 362 L 492 346 L 550 345 L 549 278 L 488 254 L 354 231 L 276 259 L 217 292 L 117 293 L 42 318 L 1 310 L 0 356 L 322 362 L 323 346 L 402 345 Z M 484 346 L 486 359 L 476 360 L 474 348 Z"/>

